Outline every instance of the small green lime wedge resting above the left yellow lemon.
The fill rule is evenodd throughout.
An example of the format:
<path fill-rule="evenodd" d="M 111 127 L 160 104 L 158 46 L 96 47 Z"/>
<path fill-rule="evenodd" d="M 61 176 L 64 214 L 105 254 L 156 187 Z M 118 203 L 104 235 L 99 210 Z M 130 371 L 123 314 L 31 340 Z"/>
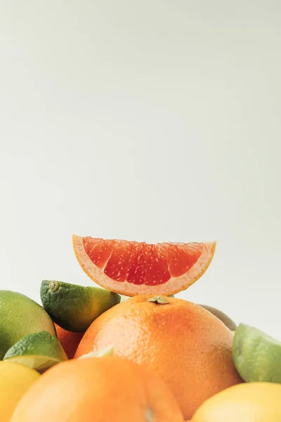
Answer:
<path fill-rule="evenodd" d="M 16 362 L 44 372 L 51 366 L 67 360 L 63 346 L 48 331 L 29 334 L 6 352 L 4 361 Z"/>

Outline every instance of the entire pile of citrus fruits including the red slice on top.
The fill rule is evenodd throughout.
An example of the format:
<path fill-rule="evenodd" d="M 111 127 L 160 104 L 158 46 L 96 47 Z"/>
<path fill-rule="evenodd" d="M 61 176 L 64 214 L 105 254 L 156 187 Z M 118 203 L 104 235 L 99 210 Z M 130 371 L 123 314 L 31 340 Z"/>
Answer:
<path fill-rule="evenodd" d="M 73 245 L 99 287 L 0 290 L 2 422 L 281 421 L 281 343 L 175 297 L 215 242 Z"/>

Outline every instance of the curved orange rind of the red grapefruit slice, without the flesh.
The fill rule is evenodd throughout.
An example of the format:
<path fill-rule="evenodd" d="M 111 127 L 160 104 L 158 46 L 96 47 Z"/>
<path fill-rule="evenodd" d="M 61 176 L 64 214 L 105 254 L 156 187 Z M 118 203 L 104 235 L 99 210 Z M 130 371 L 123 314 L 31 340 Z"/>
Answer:
<path fill-rule="evenodd" d="M 171 277 L 164 284 L 146 286 L 145 284 L 137 285 L 128 281 L 120 282 L 111 279 L 96 264 L 93 264 L 84 248 L 84 238 L 82 236 L 74 234 L 72 236 L 72 242 L 77 261 L 87 276 L 99 286 L 126 296 L 154 294 L 169 296 L 187 289 L 195 281 L 200 279 L 207 270 L 216 250 L 216 241 L 203 243 L 203 251 L 199 260 L 185 274 L 178 277 Z"/>

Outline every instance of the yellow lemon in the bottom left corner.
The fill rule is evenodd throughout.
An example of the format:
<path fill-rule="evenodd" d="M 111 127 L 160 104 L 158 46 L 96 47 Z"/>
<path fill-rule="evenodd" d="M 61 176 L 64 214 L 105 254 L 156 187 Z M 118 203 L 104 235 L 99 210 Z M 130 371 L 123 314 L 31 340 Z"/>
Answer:
<path fill-rule="evenodd" d="M 9 422 L 21 397 L 40 374 L 27 366 L 0 362 L 0 420 Z"/>

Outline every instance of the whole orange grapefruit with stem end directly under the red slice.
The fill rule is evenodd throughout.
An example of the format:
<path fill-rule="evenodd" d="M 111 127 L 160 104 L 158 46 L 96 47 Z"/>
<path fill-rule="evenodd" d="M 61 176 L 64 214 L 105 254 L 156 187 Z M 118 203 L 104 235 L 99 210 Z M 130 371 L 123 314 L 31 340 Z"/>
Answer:
<path fill-rule="evenodd" d="M 199 305 L 138 295 L 98 316 L 74 358 L 112 345 L 116 355 L 157 372 L 190 418 L 216 392 L 242 382 L 232 344 L 233 333 Z"/>

